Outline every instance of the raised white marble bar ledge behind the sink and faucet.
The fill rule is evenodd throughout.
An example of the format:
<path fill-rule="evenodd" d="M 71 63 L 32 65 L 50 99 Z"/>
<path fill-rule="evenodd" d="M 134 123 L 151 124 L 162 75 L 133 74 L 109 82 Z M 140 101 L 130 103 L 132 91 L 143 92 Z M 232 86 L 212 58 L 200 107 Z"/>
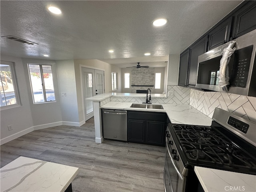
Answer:
<path fill-rule="evenodd" d="M 103 94 L 98 94 L 93 97 L 86 98 L 86 100 L 102 101 L 111 96 L 115 96 L 115 97 L 145 97 L 146 98 L 146 95 L 147 94 L 144 94 L 144 93 L 103 93 Z M 167 97 L 166 97 L 166 94 L 151 94 L 151 98 L 167 98 Z"/>

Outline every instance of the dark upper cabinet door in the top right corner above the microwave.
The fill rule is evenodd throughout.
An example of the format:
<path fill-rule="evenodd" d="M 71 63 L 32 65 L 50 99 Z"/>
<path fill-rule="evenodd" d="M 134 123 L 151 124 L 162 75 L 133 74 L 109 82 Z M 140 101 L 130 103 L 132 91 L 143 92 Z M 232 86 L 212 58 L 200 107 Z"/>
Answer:
<path fill-rule="evenodd" d="M 256 29 L 256 1 L 248 1 L 232 16 L 234 16 L 232 39 Z"/>

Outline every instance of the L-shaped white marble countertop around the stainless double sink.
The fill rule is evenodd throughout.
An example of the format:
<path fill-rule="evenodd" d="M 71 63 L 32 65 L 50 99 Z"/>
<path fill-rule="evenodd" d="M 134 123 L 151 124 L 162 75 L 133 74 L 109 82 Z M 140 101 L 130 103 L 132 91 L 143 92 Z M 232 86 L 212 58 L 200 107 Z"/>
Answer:
<path fill-rule="evenodd" d="M 156 103 L 159 105 L 159 103 Z M 119 110 L 136 110 L 136 111 L 152 111 L 166 112 L 170 121 L 177 124 L 205 125 L 210 126 L 212 119 L 196 110 L 188 104 L 160 104 L 164 109 L 145 109 L 131 108 L 132 102 L 108 102 L 100 108 L 119 109 Z"/>

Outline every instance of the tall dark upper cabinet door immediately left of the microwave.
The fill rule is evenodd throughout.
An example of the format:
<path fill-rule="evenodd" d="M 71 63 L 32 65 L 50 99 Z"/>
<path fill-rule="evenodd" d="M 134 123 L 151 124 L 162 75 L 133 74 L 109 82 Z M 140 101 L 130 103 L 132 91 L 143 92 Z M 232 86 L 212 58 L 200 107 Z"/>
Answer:
<path fill-rule="evenodd" d="M 198 56 L 202 55 L 207 50 L 208 36 L 204 36 L 190 47 L 190 57 L 188 64 L 188 86 L 196 87 Z"/>

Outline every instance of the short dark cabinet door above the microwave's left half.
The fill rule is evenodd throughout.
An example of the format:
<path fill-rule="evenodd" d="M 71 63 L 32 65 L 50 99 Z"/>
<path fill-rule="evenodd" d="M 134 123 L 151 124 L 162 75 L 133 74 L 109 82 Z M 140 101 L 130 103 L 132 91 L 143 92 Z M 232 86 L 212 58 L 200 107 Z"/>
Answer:
<path fill-rule="evenodd" d="M 209 33 L 208 50 L 223 45 L 229 41 L 231 31 L 232 17 L 228 18 Z"/>

